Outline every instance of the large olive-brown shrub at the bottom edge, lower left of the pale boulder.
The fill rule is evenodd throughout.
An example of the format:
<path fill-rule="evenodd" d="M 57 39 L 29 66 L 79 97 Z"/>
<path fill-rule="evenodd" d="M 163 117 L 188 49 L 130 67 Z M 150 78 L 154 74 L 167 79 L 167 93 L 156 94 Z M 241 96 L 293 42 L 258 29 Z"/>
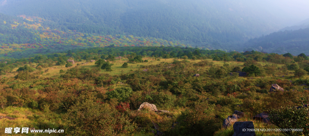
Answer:
<path fill-rule="evenodd" d="M 111 136 L 131 135 L 137 128 L 115 107 L 99 100 L 77 102 L 65 115 L 68 121 L 66 132 L 69 135 Z"/>

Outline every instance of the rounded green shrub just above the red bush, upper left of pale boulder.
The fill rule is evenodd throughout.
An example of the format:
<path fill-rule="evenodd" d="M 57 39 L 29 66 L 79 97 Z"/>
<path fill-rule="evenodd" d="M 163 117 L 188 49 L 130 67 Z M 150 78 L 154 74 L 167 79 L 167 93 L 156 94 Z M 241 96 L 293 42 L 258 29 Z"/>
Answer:
<path fill-rule="evenodd" d="M 106 92 L 106 95 L 109 99 L 116 98 L 119 101 L 124 102 L 130 97 L 132 91 L 133 90 L 131 88 L 121 87 L 121 88 L 116 88 L 116 89 Z"/>

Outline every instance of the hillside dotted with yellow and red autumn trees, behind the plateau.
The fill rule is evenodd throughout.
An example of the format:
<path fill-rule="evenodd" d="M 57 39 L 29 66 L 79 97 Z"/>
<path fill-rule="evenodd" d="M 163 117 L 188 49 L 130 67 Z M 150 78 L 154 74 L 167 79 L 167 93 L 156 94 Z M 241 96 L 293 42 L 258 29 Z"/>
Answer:
<path fill-rule="evenodd" d="M 75 30 L 61 31 L 61 25 L 39 17 L 0 14 L 0 56 L 29 57 L 33 54 L 57 53 L 76 48 L 117 46 L 188 46 L 192 45 L 159 38 L 133 35 L 98 35 Z M 213 46 L 200 48 L 214 49 Z"/>

